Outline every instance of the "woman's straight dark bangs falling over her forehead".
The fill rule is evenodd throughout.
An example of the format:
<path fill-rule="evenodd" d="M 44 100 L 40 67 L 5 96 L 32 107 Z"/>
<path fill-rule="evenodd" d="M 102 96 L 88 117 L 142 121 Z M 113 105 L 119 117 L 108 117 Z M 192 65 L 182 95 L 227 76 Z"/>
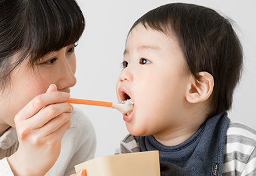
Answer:
<path fill-rule="evenodd" d="M 85 20 L 78 5 L 46 0 L 30 5 L 34 7 L 30 8 L 32 23 L 27 39 L 32 64 L 50 52 L 76 43 L 84 32 Z"/>

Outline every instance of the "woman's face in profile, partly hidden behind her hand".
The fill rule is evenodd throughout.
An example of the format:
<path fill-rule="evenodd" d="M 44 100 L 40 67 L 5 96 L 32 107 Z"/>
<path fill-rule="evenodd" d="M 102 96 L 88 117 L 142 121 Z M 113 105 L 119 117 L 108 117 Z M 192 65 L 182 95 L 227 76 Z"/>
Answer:
<path fill-rule="evenodd" d="M 14 59 L 18 57 L 15 55 Z M 76 55 L 74 44 L 44 56 L 34 67 L 29 59 L 23 61 L 11 75 L 11 89 L 0 100 L 0 126 L 15 127 L 18 113 L 35 96 L 45 93 L 50 84 L 62 92 L 70 92 L 76 84 Z"/>

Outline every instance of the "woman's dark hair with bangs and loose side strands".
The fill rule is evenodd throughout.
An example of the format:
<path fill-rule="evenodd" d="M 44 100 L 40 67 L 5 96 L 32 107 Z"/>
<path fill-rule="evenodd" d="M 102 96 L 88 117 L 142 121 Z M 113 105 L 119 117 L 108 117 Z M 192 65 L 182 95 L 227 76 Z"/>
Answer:
<path fill-rule="evenodd" d="M 43 56 L 77 42 L 85 19 L 75 0 L 0 0 L 0 92 L 10 73 L 29 57 Z M 19 53 L 13 61 L 12 56 Z"/>

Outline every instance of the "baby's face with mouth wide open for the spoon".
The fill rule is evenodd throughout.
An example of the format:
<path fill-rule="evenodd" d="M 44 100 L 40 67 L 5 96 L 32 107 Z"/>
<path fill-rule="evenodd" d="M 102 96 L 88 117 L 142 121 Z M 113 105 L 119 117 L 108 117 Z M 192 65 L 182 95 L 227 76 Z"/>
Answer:
<path fill-rule="evenodd" d="M 183 122 L 185 92 L 191 75 L 176 39 L 139 24 L 129 34 L 116 93 L 132 99 L 123 115 L 133 135 L 165 135 Z"/>

